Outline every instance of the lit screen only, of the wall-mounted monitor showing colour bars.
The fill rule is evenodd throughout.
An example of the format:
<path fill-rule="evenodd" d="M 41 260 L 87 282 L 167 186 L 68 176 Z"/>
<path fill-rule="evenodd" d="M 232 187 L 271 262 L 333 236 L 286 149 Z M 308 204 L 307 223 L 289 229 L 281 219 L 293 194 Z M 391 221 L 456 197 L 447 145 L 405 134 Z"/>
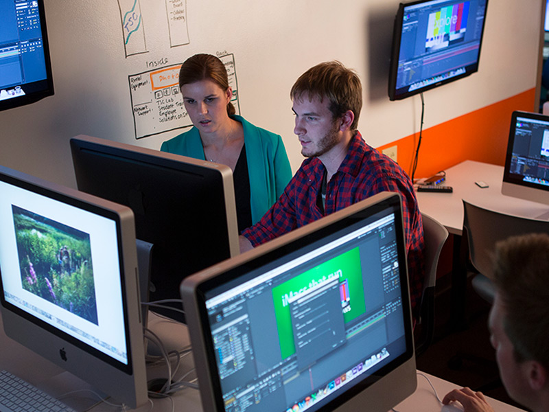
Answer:
<path fill-rule="evenodd" d="M 485 11 L 485 0 L 405 8 L 397 89 L 414 91 L 466 73 L 480 52 Z"/>

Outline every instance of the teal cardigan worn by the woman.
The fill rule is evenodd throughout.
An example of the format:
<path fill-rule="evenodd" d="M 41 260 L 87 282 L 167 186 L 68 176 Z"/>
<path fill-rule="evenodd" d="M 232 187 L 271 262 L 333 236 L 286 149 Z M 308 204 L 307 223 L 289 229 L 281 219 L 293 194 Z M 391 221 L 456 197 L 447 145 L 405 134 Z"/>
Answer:
<path fill-rule="evenodd" d="M 292 169 L 279 135 L 254 126 L 242 116 L 232 115 L 231 118 L 242 123 L 242 128 L 244 128 L 244 147 L 246 148 L 250 178 L 252 225 L 255 225 L 278 200 L 292 179 Z M 188 132 L 165 141 L 160 150 L 206 160 L 200 133 L 194 126 Z"/>

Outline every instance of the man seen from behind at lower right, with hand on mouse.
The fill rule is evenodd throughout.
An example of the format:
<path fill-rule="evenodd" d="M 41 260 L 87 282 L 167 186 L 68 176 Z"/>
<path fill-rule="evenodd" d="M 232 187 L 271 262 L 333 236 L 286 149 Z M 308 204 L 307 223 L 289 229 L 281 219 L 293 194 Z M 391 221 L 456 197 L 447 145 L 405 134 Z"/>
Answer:
<path fill-rule="evenodd" d="M 490 341 L 503 385 L 533 412 L 549 410 L 549 236 L 536 233 L 499 242 Z M 493 412 L 480 392 L 455 389 L 443 399 L 465 412 Z"/>

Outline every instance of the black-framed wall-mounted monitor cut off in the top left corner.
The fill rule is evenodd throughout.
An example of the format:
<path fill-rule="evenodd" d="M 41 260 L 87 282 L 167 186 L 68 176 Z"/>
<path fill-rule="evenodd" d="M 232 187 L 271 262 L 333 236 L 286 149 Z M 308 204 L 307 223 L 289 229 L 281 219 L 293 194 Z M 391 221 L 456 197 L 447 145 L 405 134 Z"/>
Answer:
<path fill-rule="evenodd" d="M 0 1 L 0 110 L 54 94 L 44 0 Z"/>

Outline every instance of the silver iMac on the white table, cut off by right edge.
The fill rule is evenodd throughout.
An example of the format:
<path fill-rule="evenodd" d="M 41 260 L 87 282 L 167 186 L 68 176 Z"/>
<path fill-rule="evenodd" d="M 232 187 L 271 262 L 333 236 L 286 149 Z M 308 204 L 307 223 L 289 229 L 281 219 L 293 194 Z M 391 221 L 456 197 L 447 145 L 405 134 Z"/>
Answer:
<path fill-rule="evenodd" d="M 502 194 L 549 205 L 549 116 L 513 112 Z"/>

